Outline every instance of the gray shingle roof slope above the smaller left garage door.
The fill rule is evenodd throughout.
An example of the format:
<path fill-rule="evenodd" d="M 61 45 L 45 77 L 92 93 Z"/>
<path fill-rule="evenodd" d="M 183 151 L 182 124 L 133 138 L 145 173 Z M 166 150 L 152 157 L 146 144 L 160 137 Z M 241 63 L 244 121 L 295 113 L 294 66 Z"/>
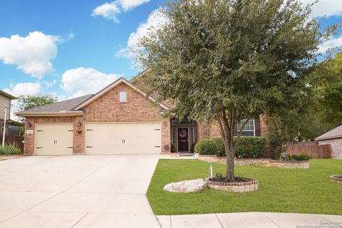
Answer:
<path fill-rule="evenodd" d="M 17 115 L 23 115 L 28 113 L 58 113 L 63 111 L 72 111 L 73 108 L 75 108 L 77 105 L 83 103 L 83 101 L 88 100 L 88 98 L 91 98 L 93 95 L 83 95 L 79 98 L 73 98 L 69 100 L 63 100 L 61 102 L 49 104 L 49 105 L 43 105 L 36 108 L 30 108 L 28 110 L 21 111 L 19 113 L 16 113 Z"/>

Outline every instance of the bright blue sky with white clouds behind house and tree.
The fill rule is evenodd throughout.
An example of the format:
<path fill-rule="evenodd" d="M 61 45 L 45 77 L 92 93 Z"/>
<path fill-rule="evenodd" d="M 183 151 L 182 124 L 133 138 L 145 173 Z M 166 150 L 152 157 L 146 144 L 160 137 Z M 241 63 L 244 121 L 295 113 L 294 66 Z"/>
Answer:
<path fill-rule="evenodd" d="M 300 0 L 309 4 L 314 0 Z M 322 28 L 342 22 L 342 0 L 312 11 Z M 0 0 L 0 89 L 58 100 L 96 93 L 136 67 L 131 49 L 161 22 L 165 0 Z M 342 46 L 342 34 L 320 51 Z"/>

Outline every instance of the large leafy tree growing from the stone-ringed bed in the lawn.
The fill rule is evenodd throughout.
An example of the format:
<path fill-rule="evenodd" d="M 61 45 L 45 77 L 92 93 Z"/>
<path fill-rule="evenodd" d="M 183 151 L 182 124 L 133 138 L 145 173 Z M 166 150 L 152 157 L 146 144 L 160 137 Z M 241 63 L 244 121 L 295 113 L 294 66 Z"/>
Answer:
<path fill-rule="evenodd" d="M 140 40 L 138 62 L 177 117 L 217 120 L 234 181 L 238 121 L 241 135 L 251 118 L 296 105 L 333 29 L 321 33 L 295 0 L 175 0 L 159 14 L 166 22 Z"/>

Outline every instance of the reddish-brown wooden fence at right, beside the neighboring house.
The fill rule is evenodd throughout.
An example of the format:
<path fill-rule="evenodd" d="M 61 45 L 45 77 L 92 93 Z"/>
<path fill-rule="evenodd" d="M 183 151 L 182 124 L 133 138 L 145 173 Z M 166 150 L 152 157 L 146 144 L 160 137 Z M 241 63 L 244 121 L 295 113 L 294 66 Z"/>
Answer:
<path fill-rule="evenodd" d="M 314 158 L 331 158 L 330 144 L 318 145 L 318 142 L 299 142 L 295 144 L 289 142 L 286 152 L 288 155 L 308 154 Z"/>

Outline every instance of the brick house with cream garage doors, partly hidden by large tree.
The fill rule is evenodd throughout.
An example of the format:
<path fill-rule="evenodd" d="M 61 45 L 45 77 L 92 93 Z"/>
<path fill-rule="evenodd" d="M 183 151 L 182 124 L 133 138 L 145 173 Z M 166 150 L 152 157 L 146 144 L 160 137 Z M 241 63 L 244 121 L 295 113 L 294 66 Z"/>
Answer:
<path fill-rule="evenodd" d="M 189 153 L 195 142 L 219 135 L 217 125 L 177 120 L 134 82 L 119 78 L 84 95 L 16 113 L 26 118 L 26 155 Z M 243 135 L 266 133 L 263 119 L 251 120 Z"/>

